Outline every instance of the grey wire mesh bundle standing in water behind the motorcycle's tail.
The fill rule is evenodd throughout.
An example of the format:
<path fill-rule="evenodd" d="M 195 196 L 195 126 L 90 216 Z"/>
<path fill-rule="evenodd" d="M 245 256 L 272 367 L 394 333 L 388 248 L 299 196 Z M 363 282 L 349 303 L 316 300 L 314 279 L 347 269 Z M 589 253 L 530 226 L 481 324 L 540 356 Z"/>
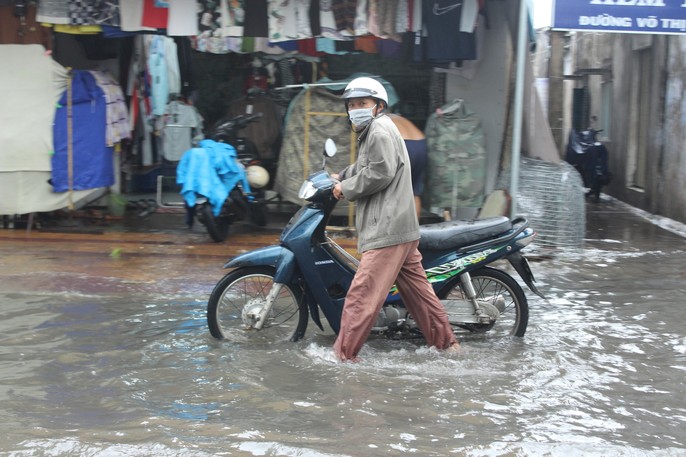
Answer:
<path fill-rule="evenodd" d="M 498 187 L 509 190 L 509 169 L 500 175 Z M 583 248 L 586 205 L 581 176 L 574 167 L 522 158 L 518 187 L 516 213 L 529 219 L 538 233 L 536 245 Z"/>

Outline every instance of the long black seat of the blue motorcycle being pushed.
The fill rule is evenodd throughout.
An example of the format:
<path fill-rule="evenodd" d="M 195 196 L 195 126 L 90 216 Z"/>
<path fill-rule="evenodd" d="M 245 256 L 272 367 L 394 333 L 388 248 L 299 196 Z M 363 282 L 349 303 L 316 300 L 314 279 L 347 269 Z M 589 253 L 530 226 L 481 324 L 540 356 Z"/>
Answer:
<path fill-rule="evenodd" d="M 438 222 L 419 226 L 419 249 L 457 249 L 501 235 L 512 228 L 505 216 Z"/>

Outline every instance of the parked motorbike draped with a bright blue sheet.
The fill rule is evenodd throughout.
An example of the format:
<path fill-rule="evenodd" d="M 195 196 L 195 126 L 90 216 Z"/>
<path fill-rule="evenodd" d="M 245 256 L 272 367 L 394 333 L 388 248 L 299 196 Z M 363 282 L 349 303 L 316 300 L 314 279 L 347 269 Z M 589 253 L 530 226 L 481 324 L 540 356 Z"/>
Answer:
<path fill-rule="evenodd" d="M 214 241 L 224 241 L 236 221 L 267 224 L 264 188 L 269 183 L 269 173 L 262 166 L 255 145 L 238 136 L 242 128 L 261 116 L 262 113 L 243 114 L 220 120 L 207 132 L 200 148 L 187 151 L 177 167 L 177 182 L 184 186 L 181 193 L 188 208 L 186 222 L 192 227 L 197 217 Z M 191 178 L 194 166 L 207 173 L 206 179 L 210 181 Z"/>

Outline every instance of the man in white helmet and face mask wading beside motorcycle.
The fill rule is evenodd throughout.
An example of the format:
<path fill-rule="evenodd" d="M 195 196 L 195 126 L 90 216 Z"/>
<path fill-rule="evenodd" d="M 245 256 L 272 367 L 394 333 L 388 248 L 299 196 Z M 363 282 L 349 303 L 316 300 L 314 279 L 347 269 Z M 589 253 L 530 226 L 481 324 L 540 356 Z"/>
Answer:
<path fill-rule="evenodd" d="M 359 152 L 355 163 L 333 175 L 340 180 L 333 194 L 357 203 L 361 259 L 345 298 L 334 352 L 342 361 L 358 360 L 394 283 L 427 344 L 456 352 L 459 343 L 417 249 L 410 160 L 400 132 L 386 115 L 386 89 L 373 78 L 356 78 L 346 86 L 343 99 Z"/>

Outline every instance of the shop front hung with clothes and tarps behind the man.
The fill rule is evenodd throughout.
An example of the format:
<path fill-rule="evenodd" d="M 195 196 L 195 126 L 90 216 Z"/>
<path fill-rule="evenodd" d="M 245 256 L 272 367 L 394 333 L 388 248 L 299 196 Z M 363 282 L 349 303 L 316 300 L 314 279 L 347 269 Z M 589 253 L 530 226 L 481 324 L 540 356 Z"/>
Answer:
<path fill-rule="evenodd" d="M 31 171 L 44 184 L 24 188 L 24 197 L 36 196 L 4 203 L 3 214 L 63 208 L 64 196 L 72 202 L 77 191 L 155 192 L 160 176 L 173 187 L 186 150 L 218 121 L 252 112 L 262 117 L 241 136 L 273 164 L 270 190 L 300 203 L 297 189 L 321 164 L 326 138 L 339 146 L 332 169 L 354 160 L 339 97 L 359 75 L 381 80 L 392 111 L 426 136 L 426 211 L 474 217 L 509 167 L 518 2 L 104 3 L 84 9 L 80 2 L 40 2 L 29 4 L 23 17 L 16 4 L 0 6 L 0 20 L 12 27 L 40 27 L 21 41 L 3 35 L 0 52 L 12 54 L 20 71 L 0 73 L 25 79 L 18 76 L 22 66 L 35 59 L 47 68 L 48 59 L 50 76 L 41 84 L 52 92 L 42 103 L 46 112 L 58 107 L 54 125 L 39 126 L 42 149 L 31 149 L 42 154 L 39 170 Z M 21 49 L 34 49 L 35 56 L 24 59 Z M 525 86 L 522 153 L 558 161 L 547 125 L 540 128 L 544 118 L 532 84 Z M 9 106 L 0 112 L 13 115 Z M 18 171 L 10 164 L 23 149 L 6 146 L 15 144 L 3 140 L 3 186 Z"/>

